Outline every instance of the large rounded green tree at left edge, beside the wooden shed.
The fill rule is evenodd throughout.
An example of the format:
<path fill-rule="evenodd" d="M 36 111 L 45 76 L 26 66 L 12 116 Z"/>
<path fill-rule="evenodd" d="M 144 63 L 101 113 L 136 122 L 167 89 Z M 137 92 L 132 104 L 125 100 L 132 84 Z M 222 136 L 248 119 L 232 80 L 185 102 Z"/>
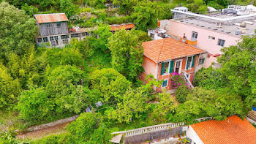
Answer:
<path fill-rule="evenodd" d="M 34 18 L 29 18 L 23 10 L 18 10 L 7 2 L 0 4 L 0 59 L 7 62 L 10 53 L 23 56 L 34 46 L 38 27 Z"/>

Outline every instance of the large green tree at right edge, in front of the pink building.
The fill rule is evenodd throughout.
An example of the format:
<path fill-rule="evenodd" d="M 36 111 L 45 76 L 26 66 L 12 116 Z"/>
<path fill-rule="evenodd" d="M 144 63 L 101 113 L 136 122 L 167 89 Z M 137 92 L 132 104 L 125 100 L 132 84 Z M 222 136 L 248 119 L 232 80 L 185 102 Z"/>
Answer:
<path fill-rule="evenodd" d="M 222 48 L 218 59 L 220 71 L 227 78 L 230 89 L 241 95 L 248 107 L 256 105 L 256 36 L 243 37 L 238 45 Z"/>

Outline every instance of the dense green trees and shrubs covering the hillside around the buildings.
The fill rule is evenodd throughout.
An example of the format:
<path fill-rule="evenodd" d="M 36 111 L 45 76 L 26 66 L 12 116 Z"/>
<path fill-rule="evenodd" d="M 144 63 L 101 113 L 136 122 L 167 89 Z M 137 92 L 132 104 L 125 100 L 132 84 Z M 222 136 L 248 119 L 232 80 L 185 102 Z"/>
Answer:
<path fill-rule="evenodd" d="M 10 5 L 10 4 L 14 5 Z M 201 69 L 190 89 L 178 74 L 172 77 L 175 97 L 163 91 L 152 76 L 142 84 L 141 42 L 157 21 L 171 18 L 169 0 L 7 0 L 0 3 L 0 110 L 18 113 L 23 127 L 80 114 L 62 134 L 31 143 L 109 143 L 110 132 L 165 122 L 192 121 L 213 116 L 244 116 L 256 105 L 255 36 L 224 48 L 220 69 Z M 193 12 L 207 6 L 247 4 L 249 1 L 188 0 Z M 20 9 L 20 10 L 19 10 Z M 71 26 L 94 27 L 91 37 L 72 39 L 64 48 L 35 48 L 36 13 L 65 12 Z M 108 24 L 133 22 L 136 29 L 110 32 Z M 107 25 L 106 25 L 107 24 Z M 95 103 L 102 102 L 101 106 Z M 84 113 L 87 108 L 92 113 Z M 22 127 L 22 126 L 21 126 Z M 9 132 L 0 143 L 22 143 Z"/>

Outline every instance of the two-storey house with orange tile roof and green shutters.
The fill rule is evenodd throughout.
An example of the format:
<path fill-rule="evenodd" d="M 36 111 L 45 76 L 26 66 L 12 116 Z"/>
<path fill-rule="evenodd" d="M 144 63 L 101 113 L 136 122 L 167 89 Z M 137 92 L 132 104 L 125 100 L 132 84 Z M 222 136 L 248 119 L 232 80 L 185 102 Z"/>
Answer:
<path fill-rule="evenodd" d="M 143 42 L 145 72 L 140 75 L 144 80 L 146 75 L 153 75 L 157 80 L 163 80 L 162 88 L 171 89 L 173 72 L 186 75 L 192 83 L 195 72 L 206 63 L 207 51 L 173 38 L 165 38 Z"/>

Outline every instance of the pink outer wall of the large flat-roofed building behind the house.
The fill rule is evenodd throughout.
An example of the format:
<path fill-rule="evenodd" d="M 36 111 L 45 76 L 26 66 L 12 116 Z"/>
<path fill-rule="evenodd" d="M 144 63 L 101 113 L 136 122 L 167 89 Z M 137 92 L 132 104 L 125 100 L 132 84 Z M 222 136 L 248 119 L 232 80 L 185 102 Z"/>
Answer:
<path fill-rule="evenodd" d="M 205 67 L 217 62 L 217 56 L 222 54 L 221 49 L 236 45 L 241 38 L 234 35 L 225 34 L 205 27 L 193 26 L 181 23 L 178 20 L 170 20 L 168 34 L 176 37 L 187 37 L 191 41 L 197 41 L 195 47 L 208 51 L 208 59 Z"/>

